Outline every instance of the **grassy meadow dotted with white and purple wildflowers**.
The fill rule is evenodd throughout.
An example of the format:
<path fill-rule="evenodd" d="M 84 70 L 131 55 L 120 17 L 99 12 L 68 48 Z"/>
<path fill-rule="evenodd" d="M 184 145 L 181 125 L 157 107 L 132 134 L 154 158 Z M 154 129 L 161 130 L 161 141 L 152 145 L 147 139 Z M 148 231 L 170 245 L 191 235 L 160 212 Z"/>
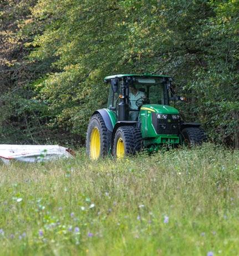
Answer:
<path fill-rule="evenodd" d="M 239 255 L 239 152 L 1 167 L 1 255 Z"/>

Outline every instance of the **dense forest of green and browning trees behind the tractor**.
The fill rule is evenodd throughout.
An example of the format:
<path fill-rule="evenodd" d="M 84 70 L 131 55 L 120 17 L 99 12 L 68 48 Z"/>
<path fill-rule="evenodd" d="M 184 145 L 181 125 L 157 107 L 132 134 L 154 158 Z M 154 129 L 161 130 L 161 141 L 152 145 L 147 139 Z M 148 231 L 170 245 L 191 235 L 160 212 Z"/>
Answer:
<path fill-rule="evenodd" d="M 211 141 L 239 141 L 239 1 L 0 0 L 1 143 L 84 143 L 106 75 L 174 78 Z"/>

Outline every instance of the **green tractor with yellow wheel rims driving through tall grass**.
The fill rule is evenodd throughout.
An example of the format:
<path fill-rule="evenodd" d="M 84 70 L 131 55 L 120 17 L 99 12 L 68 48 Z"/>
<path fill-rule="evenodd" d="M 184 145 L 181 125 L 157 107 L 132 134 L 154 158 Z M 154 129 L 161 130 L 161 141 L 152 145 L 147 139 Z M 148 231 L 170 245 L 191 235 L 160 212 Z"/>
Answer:
<path fill-rule="evenodd" d="M 96 110 L 87 130 L 87 154 L 91 159 L 106 155 L 134 155 L 143 147 L 156 150 L 164 145 L 197 145 L 206 140 L 200 124 L 184 122 L 170 100 L 180 100 L 169 76 L 114 75 L 108 106 Z"/>

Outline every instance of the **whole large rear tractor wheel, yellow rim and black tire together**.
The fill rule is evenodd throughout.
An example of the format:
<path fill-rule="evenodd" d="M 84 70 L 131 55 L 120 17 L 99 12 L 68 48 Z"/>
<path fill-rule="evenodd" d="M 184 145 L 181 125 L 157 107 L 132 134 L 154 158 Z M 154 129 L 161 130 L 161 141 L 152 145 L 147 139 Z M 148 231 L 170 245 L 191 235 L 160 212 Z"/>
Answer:
<path fill-rule="evenodd" d="M 107 155 L 110 140 L 107 136 L 107 128 L 100 114 L 91 117 L 87 129 L 87 154 L 93 160 Z"/>

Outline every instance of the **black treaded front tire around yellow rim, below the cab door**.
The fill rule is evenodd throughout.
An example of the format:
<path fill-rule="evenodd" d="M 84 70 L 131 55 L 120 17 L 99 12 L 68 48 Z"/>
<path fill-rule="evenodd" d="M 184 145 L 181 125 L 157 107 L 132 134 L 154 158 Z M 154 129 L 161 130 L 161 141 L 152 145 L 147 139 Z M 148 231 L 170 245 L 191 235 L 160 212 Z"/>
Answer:
<path fill-rule="evenodd" d="M 113 155 L 119 157 L 117 152 L 118 140 L 124 144 L 124 156 L 134 155 L 140 151 L 143 145 L 140 129 L 135 126 L 121 126 L 115 132 Z"/>

